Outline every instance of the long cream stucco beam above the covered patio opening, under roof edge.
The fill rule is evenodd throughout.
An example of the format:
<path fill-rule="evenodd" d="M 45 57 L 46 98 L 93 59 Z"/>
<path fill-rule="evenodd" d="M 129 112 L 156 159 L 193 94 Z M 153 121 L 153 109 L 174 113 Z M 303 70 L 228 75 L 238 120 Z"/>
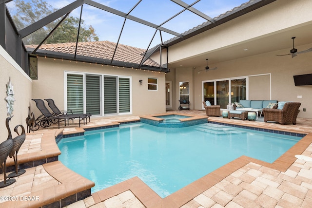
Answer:
<path fill-rule="evenodd" d="M 170 46 L 168 62 L 173 63 L 187 57 L 270 36 L 277 31 L 288 30 L 300 24 L 311 23 L 311 8 L 311 0 L 274 1 L 221 26 Z M 165 51 L 163 56 L 165 56 Z"/>

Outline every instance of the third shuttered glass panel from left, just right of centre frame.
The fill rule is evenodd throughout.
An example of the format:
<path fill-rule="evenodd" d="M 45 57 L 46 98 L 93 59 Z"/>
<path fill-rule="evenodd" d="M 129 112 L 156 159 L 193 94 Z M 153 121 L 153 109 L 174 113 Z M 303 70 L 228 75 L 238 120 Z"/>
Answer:
<path fill-rule="evenodd" d="M 117 77 L 104 76 L 104 114 L 117 113 Z"/>

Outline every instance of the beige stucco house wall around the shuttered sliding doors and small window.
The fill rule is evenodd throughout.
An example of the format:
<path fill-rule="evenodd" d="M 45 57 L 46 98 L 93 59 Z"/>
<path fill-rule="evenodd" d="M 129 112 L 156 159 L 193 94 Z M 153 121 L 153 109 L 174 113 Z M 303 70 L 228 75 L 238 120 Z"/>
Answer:
<path fill-rule="evenodd" d="M 64 71 L 88 72 L 105 75 L 122 75 L 132 77 L 132 115 L 164 113 L 165 108 L 165 74 L 148 70 L 136 70 L 122 67 L 102 66 L 76 61 L 52 58 L 38 58 L 38 80 L 33 81 L 34 99 L 54 99 L 59 109 L 64 109 Z M 148 77 L 158 78 L 158 90 L 149 91 Z M 139 80 L 143 80 L 140 85 Z M 48 107 L 48 106 L 47 106 Z M 35 102 L 32 110 L 39 114 Z M 116 115 L 115 115 L 116 116 Z M 124 115 L 123 115 L 124 116 Z"/>

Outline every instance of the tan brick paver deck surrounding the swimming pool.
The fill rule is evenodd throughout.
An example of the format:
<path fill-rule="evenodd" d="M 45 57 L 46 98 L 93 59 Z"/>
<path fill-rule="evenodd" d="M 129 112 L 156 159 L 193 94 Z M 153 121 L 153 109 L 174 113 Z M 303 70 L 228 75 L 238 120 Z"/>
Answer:
<path fill-rule="evenodd" d="M 170 113 L 174 113 L 171 111 Z M 181 112 L 178 112 L 181 113 Z M 204 111 L 184 111 L 183 113 L 205 115 Z M 138 116 L 91 119 L 82 128 L 109 125 L 120 120 L 135 120 Z M 280 125 L 242 121 L 238 119 L 223 119 L 222 117 L 209 117 L 208 120 L 246 125 L 252 127 L 268 128 L 273 130 L 310 133 L 312 132 L 312 119 L 297 119 L 297 125 Z M 34 140 L 25 142 L 20 154 L 30 154 L 38 151 L 40 136 L 49 133 L 50 129 L 41 129 L 26 138 Z M 81 132 L 78 123 L 70 123 L 63 133 Z M 51 133 L 50 133 L 51 135 Z M 162 199 L 139 178 L 135 177 L 115 186 L 103 189 L 92 196 L 67 206 L 68 208 L 218 208 L 218 207 L 265 207 L 265 208 L 293 208 L 311 207 L 312 204 L 312 162 L 306 162 L 294 157 L 302 154 L 312 157 L 312 134 L 304 137 L 294 148 L 286 152 L 273 164 L 242 156 L 231 163 L 198 179 L 194 183 L 182 188 Z M 23 144 L 24 145 L 24 144 Z M 27 146 L 27 148 L 26 148 Z M 39 148 L 40 149 L 40 148 Z M 47 174 L 43 166 L 27 169 L 27 174 L 20 176 L 15 186 L 20 186 L 18 192 L 13 189 L 11 196 L 29 194 L 29 191 L 39 190 L 42 187 L 53 187 L 59 184 L 60 179 Z M 37 172 L 37 176 L 36 176 Z M 3 175 L 0 174 L 0 178 Z M 12 186 L 12 185 L 11 185 Z M 0 189 L 0 195 L 5 195 L 11 189 Z M 51 196 L 42 196 L 51 197 Z M 31 202 L 30 202 L 31 203 Z M 0 207 L 3 203 L 0 203 Z"/>

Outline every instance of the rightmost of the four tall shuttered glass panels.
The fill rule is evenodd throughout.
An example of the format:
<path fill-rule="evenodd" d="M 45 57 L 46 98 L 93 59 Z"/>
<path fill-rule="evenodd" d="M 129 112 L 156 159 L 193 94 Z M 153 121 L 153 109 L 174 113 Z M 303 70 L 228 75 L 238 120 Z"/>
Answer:
<path fill-rule="evenodd" d="M 130 112 L 130 79 L 119 78 L 119 113 Z"/>

